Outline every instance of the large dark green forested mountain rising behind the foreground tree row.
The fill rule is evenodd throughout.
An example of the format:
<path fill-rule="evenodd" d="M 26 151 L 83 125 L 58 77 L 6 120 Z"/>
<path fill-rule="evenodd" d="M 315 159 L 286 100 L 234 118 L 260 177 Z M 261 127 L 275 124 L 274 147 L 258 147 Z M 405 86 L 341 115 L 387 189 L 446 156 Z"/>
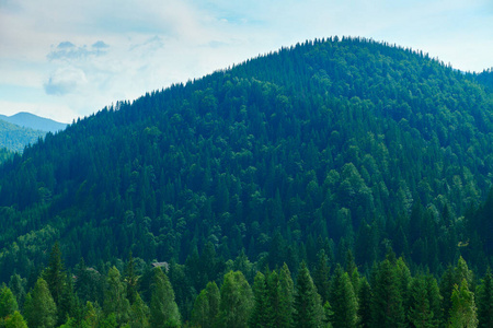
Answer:
<path fill-rule="evenodd" d="M 426 55 L 344 38 L 118 103 L 0 168 L 1 278 L 55 239 L 69 266 L 211 243 L 272 268 L 321 245 L 360 266 L 392 246 L 433 271 L 484 267 L 488 232 L 461 215 L 492 187 L 492 99 Z"/>

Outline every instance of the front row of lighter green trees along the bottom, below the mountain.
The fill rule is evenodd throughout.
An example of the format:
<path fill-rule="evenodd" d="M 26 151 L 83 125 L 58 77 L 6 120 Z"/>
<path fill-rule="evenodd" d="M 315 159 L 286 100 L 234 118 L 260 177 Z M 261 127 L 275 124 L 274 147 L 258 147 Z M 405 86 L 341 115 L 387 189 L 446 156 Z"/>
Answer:
<path fill-rule="evenodd" d="M 214 250 L 214 246 L 210 245 Z M 214 254 L 209 260 L 215 260 Z M 158 263 L 154 263 L 158 265 Z M 84 261 L 67 273 L 59 245 L 26 293 L 13 274 L 0 290 L 1 327 L 492 327 L 493 276 L 478 280 L 460 257 L 439 282 L 428 271 L 410 272 L 390 250 L 368 278 L 351 250 L 331 268 L 322 249 L 310 272 L 295 279 L 286 263 L 254 270 L 246 256 L 228 261 L 193 300 L 183 298 L 195 268 L 165 263 L 138 268 L 129 256 L 124 271 L 102 274 Z M 217 268 L 208 266 L 208 270 Z M 331 273 L 332 272 L 332 273 Z M 217 272 L 215 272 L 217 273 Z M 214 273 L 214 274 L 215 274 Z M 253 278 L 254 277 L 254 278 Z M 185 311 L 182 302 L 193 304 Z"/>

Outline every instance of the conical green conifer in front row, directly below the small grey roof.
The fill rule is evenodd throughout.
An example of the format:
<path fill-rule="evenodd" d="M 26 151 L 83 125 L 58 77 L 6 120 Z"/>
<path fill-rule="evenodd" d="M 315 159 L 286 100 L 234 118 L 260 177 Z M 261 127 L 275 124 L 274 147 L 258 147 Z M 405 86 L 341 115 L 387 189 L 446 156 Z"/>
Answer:
<path fill-rule="evenodd" d="M 180 327 L 181 316 L 174 301 L 174 292 L 168 276 L 161 268 L 153 269 L 150 303 L 151 327 Z"/>

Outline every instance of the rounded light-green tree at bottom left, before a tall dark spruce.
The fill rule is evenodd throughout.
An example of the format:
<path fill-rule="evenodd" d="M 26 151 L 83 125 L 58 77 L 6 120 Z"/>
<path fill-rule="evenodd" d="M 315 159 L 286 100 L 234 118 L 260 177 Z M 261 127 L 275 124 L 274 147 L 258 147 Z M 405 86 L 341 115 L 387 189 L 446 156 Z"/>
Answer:
<path fill-rule="evenodd" d="M 57 324 L 57 306 L 43 278 L 37 279 L 26 295 L 24 313 L 30 328 L 51 328 Z"/>

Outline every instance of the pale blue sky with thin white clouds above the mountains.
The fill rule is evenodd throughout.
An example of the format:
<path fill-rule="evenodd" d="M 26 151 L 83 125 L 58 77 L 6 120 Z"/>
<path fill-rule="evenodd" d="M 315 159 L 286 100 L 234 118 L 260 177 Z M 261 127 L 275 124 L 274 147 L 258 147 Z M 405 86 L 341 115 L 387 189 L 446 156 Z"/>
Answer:
<path fill-rule="evenodd" d="M 493 67 L 491 0 L 0 0 L 0 114 L 62 122 L 307 39 Z"/>

